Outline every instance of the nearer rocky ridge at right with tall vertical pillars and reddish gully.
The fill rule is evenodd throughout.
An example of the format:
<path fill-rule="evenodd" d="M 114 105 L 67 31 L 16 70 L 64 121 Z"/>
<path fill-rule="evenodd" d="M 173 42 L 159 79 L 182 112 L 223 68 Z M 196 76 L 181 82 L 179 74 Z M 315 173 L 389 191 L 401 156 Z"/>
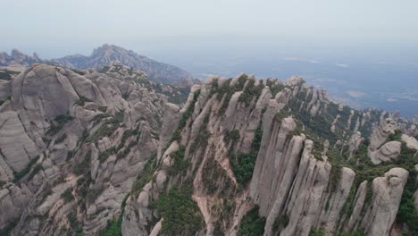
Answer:
<path fill-rule="evenodd" d="M 128 199 L 125 235 L 175 231 L 164 217 L 180 217 L 181 212 L 159 215 L 163 208 L 157 206 L 146 214 L 146 209 L 150 202 L 161 203 L 158 194 L 188 181 L 193 182 L 188 197 L 203 222 L 196 234 L 243 235 L 247 212 L 254 206 L 264 235 L 389 235 L 402 224 L 398 209 L 416 150 L 400 150 L 402 140 L 395 137 L 398 129 L 387 119 L 390 114 L 335 105 L 323 90 L 315 91 L 297 77 L 281 83 L 245 75 L 210 78 L 194 87 L 182 114 L 184 124 L 180 122 L 174 142 L 160 157 L 160 171 L 154 173 L 160 182 L 149 181 L 138 198 Z M 370 150 L 391 149 L 394 142 L 399 147 L 388 159 L 391 164 L 373 164 L 376 155 Z M 167 172 L 179 147 L 184 152 L 177 161 L 188 166 L 183 172 Z M 405 160 L 397 160 L 403 155 Z M 141 222 L 138 215 L 155 220 Z M 254 225 L 248 227 L 247 232 L 255 231 Z M 410 224 L 400 227 L 414 233 Z"/>

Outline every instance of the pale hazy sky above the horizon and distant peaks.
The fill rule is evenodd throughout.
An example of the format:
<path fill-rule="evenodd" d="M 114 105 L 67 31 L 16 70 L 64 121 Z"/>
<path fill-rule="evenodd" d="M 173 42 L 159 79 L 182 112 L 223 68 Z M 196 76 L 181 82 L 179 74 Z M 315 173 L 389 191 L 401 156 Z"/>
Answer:
<path fill-rule="evenodd" d="M 0 0 L 0 51 L 418 45 L 416 0 Z M 225 38 L 225 40 L 223 40 Z M 233 42 L 231 42 L 233 41 Z M 207 48 L 206 48 L 207 49 Z"/>

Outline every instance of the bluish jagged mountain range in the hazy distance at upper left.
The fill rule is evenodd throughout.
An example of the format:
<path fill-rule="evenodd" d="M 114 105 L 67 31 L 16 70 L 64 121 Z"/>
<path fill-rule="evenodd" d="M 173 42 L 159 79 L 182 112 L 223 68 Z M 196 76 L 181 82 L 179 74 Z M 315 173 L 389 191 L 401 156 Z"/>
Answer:
<path fill-rule="evenodd" d="M 17 62 L 24 66 L 32 63 L 49 63 L 63 67 L 84 70 L 94 68 L 101 70 L 113 61 L 119 61 L 124 65 L 146 72 L 151 80 L 169 84 L 190 84 L 193 76 L 179 67 L 171 64 L 159 63 L 144 55 L 124 49 L 120 46 L 107 45 L 99 46 L 93 50 L 89 56 L 86 55 L 67 55 L 62 58 L 45 60 L 39 58 L 37 54 L 32 56 L 25 55 L 17 49 L 13 49 L 12 54 L 0 53 L 0 65 L 9 65 Z"/>

